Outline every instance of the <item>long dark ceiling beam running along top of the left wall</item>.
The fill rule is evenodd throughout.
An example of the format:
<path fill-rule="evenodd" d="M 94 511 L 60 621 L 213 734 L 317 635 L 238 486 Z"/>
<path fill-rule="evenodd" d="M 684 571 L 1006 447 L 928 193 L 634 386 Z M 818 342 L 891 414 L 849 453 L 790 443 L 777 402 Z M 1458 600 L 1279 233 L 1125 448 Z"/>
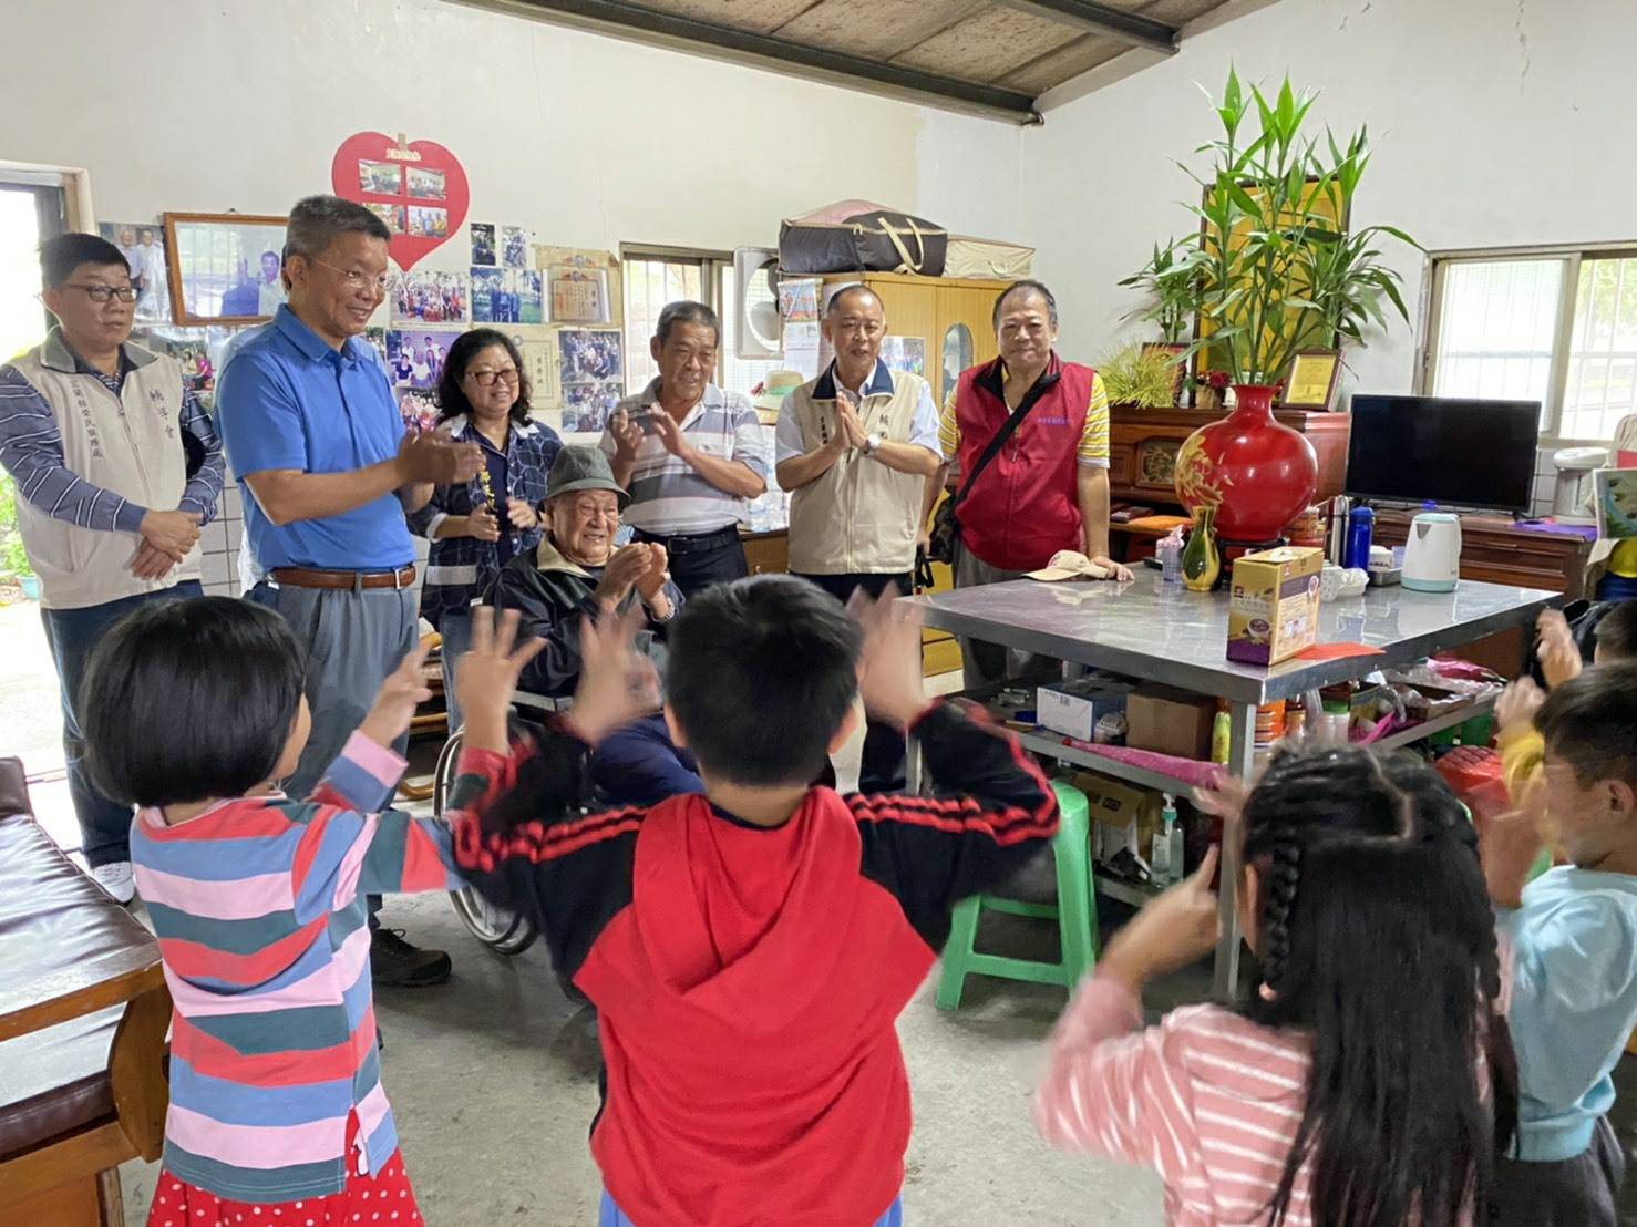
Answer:
<path fill-rule="evenodd" d="M 712 21 L 638 8 L 625 0 L 467 2 L 478 8 L 499 8 L 598 34 L 771 69 L 786 75 L 920 101 L 966 115 L 981 115 L 989 119 L 1010 119 L 1018 124 L 1041 121 L 1033 97 L 1018 90 L 945 77 L 902 64 L 881 64 L 843 51 L 792 43 L 751 29 L 735 29 Z"/>

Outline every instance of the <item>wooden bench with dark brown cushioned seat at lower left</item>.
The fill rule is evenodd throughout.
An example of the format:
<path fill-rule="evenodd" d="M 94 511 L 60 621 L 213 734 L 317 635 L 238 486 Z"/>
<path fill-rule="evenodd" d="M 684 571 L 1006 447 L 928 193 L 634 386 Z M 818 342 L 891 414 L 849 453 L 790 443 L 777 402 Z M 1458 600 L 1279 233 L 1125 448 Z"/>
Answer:
<path fill-rule="evenodd" d="M 169 1026 L 159 944 L 0 759 L 0 1222 L 123 1227 L 118 1166 L 164 1144 Z"/>

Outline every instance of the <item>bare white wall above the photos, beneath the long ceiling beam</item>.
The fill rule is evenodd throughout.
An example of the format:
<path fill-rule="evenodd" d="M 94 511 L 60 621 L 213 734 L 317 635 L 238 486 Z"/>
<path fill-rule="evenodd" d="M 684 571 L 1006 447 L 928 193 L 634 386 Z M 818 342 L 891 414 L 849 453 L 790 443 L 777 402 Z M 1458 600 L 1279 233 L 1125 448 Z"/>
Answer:
<path fill-rule="evenodd" d="M 542 242 L 771 244 L 846 196 L 977 232 L 1018 218 L 1015 177 L 972 193 L 958 172 L 967 149 L 1015 169 L 1012 124 L 442 0 L 10 0 L 5 36 L 0 159 L 88 169 L 105 219 L 285 213 L 368 129 L 447 146 L 470 219 Z M 467 262 L 458 236 L 419 267 Z"/>

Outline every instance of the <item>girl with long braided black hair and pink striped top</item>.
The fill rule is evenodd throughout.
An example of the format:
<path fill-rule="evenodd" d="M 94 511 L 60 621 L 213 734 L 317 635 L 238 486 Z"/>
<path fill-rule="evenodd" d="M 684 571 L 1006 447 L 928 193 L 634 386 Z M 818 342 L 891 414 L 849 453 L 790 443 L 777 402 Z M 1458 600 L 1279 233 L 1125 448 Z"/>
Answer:
<path fill-rule="evenodd" d="M 1157 1168 L 1175 1227 L 1481 1224 L 1516 1096 L 1465 811 L 1426 764 L 1354 748 L 1280 753 L 1238 802 L 1202 798 L 1242 841 L 1260 982 L 1143 1026 L 1143 985 L 1215 946 L 1213 849 L 1064 1013 L 1041 1134 Z"/>

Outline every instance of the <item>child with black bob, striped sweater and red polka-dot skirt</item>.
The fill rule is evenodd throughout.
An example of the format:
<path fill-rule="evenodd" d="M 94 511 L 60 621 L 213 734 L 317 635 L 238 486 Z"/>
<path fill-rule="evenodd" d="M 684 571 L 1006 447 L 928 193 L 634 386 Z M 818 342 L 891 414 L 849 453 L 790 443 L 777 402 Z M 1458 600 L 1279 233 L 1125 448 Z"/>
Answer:
<path fill-rule="evenodd" d="M 144 605 L 92 656 L 90 766 L 141 807 L 131 861 L 174 1001 L 149 1227 L 421 1222 L 381 1090 L 365 895 L 457 883 L 447 828 L 370 811 L 403 774 L 422 658 L 298 798 L 278 780 L 311 717 L 277 614 Z"/>

